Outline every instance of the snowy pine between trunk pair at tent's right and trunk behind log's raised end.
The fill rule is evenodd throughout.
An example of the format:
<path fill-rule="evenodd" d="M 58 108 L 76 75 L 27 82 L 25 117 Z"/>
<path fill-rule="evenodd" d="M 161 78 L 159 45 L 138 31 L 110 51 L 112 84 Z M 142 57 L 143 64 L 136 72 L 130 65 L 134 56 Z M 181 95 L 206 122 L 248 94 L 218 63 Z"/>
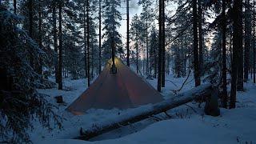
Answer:
<path fill-rule="evenodd" d="M 192 31 L 192 14 L 190 13 L 190 5 L 186 6 L 186 2 L 178 2 L 178 12 L 174 17 L 167 19 L 166 39 L 171 39 L 170 55 L 173 60 L 174 77 L 185 77 L 191 68 L 191 48 L 193 41 Z M 167 62 L 170 60 L 167 58 Z M 188 64 L 188 65 L 187 65 Z M 188 70 L 187 70 L 188 69 Z"/>

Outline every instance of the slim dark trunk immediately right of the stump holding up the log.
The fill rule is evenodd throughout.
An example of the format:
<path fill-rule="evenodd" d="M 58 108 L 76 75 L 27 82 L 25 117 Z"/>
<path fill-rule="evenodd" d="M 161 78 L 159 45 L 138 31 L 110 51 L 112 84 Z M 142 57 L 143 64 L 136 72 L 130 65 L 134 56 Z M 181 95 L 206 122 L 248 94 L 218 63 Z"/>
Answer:
<path fill-rule="evenodd" d="M 222 0 L 222 97 L 223 107 L 227 108 L 226 92 L 226 0 Z"/>

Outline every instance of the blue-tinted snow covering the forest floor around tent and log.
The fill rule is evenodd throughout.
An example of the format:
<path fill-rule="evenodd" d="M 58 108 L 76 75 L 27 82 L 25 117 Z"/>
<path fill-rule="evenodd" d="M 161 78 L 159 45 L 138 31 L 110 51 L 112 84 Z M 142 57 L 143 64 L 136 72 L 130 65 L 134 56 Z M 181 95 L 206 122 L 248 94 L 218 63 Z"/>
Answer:
<path fill-rule="evenodd" d="M 166 78 L 166 87 L 162 89 L 164 98 L 174 97 L 172 90 L 178 90 L 186 78 Z M 194 87 L 193 78 L 187 80 L 186 85 L 179 92 Z M 156 88 L 157 80 L 148 80 Z M 56 112 L 65 120 L 62 122 L 64 130 L 58 128 L 48 131 L 35 123 L 30 138 L 34 143 L 255 143 L 256 142 L 256 86 L 252 82 L 245 83 L 245 92 L 238 92 L 237 108 L 226 110 L 221 108 L 218 117 L 207 116 L 203 106 L 190 102 L 169 110 L 166 114 L 158 114 L 156 118 L 148 118 L 132 126 L 122 127 L 118 130 L 102 134 L 93 138 L 92 142 L 75 140 L 81 127 L 90 127 L 95 122 L 106 122 L 108 119 L 118 118 L 128 110 L 88 110 L 86 114 L 72 115 L 65 109 L 84 90 L 86 79 L 65 79 L 65 90 L 38 90 L 39 93 L 48 94 L 48 100 L 59 109 Z M 55 96 L 62 95 L 64 105 L 55 103 Z M 203 104 L 202 104 L 203 105 Z M 142 106 L 137 109 L 142 110 Z M 162 121 L 158 121 L 162 119 Z"/>

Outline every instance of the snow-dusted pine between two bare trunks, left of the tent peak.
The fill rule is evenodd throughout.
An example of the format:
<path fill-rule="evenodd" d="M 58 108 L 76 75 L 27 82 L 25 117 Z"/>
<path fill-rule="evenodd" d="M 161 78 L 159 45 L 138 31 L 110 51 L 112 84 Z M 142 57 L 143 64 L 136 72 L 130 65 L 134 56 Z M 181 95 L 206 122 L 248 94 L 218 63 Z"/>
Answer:
<path fill-rule="evenodd" d="M 78 45 L 82 42 L 81 31 L 78 25 L 80 19 L 78 17 L 78 6 L 74 2 L 65 3 L 66 19 L 63 21 L 63 68 L 65 77 L 70 73 L 74 79 L 84 77 L 84 65 L 82 46 Z"/>

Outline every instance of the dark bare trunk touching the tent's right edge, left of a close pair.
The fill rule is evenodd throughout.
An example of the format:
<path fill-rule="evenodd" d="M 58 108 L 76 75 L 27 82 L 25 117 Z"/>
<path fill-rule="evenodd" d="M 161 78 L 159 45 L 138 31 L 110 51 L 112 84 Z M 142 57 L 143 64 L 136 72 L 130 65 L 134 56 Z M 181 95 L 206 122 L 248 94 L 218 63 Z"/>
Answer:
<path fill-rule="evenodd" d="M 158 91 L 161 92 L 162 76 L 162 0 L 159 0 L 159 47 L 158 47 Z"/>

